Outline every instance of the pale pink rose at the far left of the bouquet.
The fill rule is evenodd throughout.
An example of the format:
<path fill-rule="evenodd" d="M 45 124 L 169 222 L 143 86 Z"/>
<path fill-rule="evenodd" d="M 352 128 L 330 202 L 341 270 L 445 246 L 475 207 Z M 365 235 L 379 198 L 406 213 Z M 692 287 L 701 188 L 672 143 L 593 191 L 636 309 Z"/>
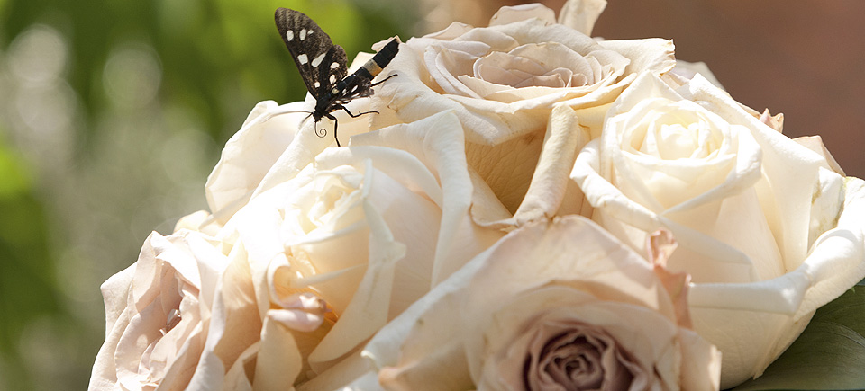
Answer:
<path fill-rule="evenodd" d="M 206 235 L 189 230 L 151 234 L 138 262 L 102 286 L 105 344 L 96 356 L 90 389 L 187 387 L 228 263 L 219 243 Z"/>

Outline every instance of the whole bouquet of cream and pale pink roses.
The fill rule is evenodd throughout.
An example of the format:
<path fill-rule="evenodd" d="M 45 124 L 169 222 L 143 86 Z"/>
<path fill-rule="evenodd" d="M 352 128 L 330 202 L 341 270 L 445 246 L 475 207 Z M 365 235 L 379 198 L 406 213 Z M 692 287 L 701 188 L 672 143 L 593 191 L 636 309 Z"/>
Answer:
<path fill-rule="evenodd" d="M 297 112 L 314 99 L 259 103 L 211 212 L 102 286 L 90 388 L 759 377 L 865 277 L 865 186 L 671 41 L 591 38 L 604 5 L 505 7 L 399 44 L 377 80 L 396 76 L 345 104 L 378 113 L 332 112 L 343 147 Z"/>

